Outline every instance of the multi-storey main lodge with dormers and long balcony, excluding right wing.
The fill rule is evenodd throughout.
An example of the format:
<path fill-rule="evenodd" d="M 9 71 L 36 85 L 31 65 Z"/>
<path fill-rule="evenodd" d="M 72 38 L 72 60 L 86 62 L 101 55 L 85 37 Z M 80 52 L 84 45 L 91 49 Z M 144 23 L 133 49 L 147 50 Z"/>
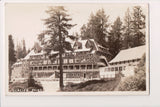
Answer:
<path fill-rule="evenodd" d="M 93 39 L 77 40 L 73 44 L 74 51 L 65 52 L 63 57 L 64 80 L 84 80 L 100 78 L 99 67 L 108 66 L 106 55 L 108 50 Z M 51 54 L 58 52 L 52 51 Z M 50 59 L 42 50 L 32 50 L 25 58 L 17 61 L 12 70 L 12 81 L 27 78 L 28 73 L 36 79 L 56 80 L 59 78 L 59 56 Z"/>

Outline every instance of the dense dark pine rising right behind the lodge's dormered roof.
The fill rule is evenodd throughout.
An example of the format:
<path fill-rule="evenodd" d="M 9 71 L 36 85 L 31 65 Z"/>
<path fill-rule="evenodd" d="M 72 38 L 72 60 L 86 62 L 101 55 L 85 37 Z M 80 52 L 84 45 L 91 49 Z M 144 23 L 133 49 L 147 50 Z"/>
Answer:
<path fill-rule="evenodd" d="M 100 45 L 107 47 L 108 18 L 104 9 L 98 10 L 95 15 L 91 13 L 89 22 L 81 28 L 82 38 L 94 39 Z"/>

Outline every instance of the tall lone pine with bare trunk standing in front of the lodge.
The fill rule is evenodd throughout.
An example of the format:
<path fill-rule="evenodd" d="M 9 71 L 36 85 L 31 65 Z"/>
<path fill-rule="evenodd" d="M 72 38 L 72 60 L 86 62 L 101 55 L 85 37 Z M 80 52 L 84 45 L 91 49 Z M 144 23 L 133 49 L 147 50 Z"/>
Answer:
<path fill-rule="evenodd" d="M 62 54 L 65 50 L 72 50 L 70 42 L 66 41 L 68 30 L 74 25 L 69 24 L 72 19 L 69 18 L 67 10 L 63 6 L 50 7 L 47 11 L 49 17 L 45 19 L 47 30 L 41 33 L 38 39 L 44 45 L 44 50 L 49 54 L 52 50 L 58 51 L 60 61 L 60 89 L 63 90 L 63 59 Z M 46 40 L 45 35 L 50 39 Z M 51 57 L 50 57 L 51 58 Z"/>

